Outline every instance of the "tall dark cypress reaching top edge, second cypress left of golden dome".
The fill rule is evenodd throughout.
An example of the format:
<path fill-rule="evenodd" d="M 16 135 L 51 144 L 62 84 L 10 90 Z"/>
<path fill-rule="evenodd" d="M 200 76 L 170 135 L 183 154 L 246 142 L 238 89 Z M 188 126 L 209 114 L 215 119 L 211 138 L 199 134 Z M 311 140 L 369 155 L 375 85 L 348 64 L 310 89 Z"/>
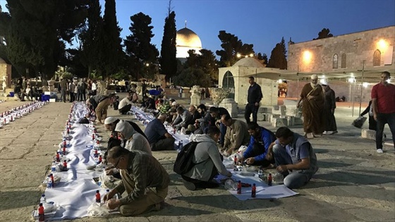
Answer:
<path fill-rule="evenodd" d="M 121 56 L 121 42 L 119 37 L 121 28 L 116 20 L 115 0 L 105 0 L 103 16 L 103 42 L 100 68 L 102 77 L 108 78 L 119 71 L 119 56 Z"/>

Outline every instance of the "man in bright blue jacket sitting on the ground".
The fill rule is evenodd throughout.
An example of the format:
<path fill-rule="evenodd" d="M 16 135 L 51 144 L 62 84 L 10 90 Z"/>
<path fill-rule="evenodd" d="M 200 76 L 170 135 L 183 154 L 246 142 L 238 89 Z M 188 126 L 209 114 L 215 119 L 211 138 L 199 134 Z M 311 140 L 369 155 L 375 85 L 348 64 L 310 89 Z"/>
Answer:
<path fill-rule="evenodd" d="M 276 136 L 272 131 L 259 126 L 255 122 L 248 123 L 247 130 L 251 135 L 250 143 L 238 161 L 241 163 L 245 161 L 248 165 L 269 168 L 270 164 L 274 164 L 274 159 L 267 159 L 267 152 L 270 144 L 276 140 Z"/>

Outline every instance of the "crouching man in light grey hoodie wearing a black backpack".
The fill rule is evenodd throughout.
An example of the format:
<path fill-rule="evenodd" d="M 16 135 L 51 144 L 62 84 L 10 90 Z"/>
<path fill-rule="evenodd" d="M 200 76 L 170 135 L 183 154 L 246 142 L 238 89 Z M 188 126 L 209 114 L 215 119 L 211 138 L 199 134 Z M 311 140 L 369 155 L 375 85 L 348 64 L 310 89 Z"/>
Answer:
<path fill-rule="evenodd" d="M 205 135 L 196 135 L 193 142 L 199 142 L 193 154 L 193 168 L 184 175 L 183 185 L 188 190 L 196 188 L 218 187 L 219 184 L 212 179 L 221 173 L 221 175 L 231 177 L 232 173 L 226 170 L 222 164 L 222 156 L 217 148 L 217 141 L 221 132 L 217 127 L 211 127 Z"/>

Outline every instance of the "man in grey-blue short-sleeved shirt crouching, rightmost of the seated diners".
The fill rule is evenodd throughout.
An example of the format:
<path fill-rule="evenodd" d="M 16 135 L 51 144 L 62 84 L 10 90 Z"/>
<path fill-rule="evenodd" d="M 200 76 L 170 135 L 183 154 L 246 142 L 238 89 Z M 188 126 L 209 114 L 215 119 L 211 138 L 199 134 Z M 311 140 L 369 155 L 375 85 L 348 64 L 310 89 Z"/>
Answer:
<path fill-rule="evenodd" d="M 310 142 L 286 127 L 276 131 L 277 140 L 270 144 L 267 159 L 274 158 L 277 171 L 284 175 L 284 185 L 298 188 L 318 171 L 317 156 Z"/>

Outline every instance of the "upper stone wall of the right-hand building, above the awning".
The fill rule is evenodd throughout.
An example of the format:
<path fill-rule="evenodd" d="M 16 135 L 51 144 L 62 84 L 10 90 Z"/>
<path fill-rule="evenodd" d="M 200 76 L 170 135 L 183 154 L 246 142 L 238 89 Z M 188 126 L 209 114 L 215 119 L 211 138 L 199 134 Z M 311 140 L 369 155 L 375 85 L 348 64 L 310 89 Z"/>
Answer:
<path fill-rule="evenodd" d="M 385 41 L 387 47 L 380 46 L 381 39 Z M 391 65 L 395 63 L 394 45 L 395 26 L 288 44 L 288 70 L 298 70 L 298 72 L 360 70 L 363 60 L 365 60 L 365 70 L 368 70 L 374 67 L 373 54 L 377 49 L 381 51 L 380 66 Z M 312 56 L 310 63 L 303 61 L 303 53 L 306 50 L 310 51 Z M 338 68 L 333 67 L 334 54 L 338 55 Z M 343 54 L 346 55 L 346 66 L 341 68 Z"/>

